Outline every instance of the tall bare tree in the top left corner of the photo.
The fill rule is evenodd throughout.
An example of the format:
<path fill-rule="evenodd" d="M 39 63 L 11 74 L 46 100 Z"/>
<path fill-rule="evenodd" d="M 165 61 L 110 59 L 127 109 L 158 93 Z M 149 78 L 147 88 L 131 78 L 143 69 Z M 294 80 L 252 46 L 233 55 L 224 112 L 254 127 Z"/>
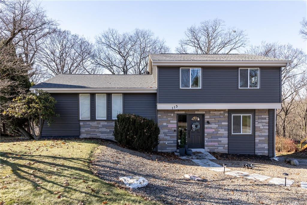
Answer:
<path fill-rule="evenodd" d="M 14 46 L 16 54 L 31 66 L 29 76 L 33 80 L 38 79 L 40 73 L 35 65 L 37 51 L 44 42 L 44 38 L 51 34 L 58 24 L 47 17 L 40 4 L 30 0 L 0 3 L 2 5 L 0 12 L 2 46 Z"/>

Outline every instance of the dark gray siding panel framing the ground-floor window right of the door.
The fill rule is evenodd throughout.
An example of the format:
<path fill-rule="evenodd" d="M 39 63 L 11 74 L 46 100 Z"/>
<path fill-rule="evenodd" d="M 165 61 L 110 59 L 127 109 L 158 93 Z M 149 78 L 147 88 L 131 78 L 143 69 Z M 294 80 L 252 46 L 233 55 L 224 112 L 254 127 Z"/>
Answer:
<path fill-rule="evenodd" d="M 252 134 L 232 135 L 231 114 L 252 114 Z M 255 110 L 228 110 L 228 153 L 255 155 Z"/>

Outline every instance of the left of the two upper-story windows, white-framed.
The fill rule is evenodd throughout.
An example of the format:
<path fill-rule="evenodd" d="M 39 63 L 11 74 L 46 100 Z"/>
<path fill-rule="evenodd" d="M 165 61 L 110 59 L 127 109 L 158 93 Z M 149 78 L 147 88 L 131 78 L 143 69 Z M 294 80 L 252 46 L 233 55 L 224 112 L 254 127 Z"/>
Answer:
<path fill-rule="evenodd" d="M 201 68 L 180 68 L 180 88 L 201 88 Z"/>

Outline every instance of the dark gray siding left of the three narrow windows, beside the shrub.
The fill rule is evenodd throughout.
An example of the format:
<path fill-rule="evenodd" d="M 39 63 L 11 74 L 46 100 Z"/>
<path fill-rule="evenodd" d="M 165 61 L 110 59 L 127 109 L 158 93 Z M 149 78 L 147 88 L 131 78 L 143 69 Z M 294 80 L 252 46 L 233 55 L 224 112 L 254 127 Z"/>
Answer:
<path fill-rule="evenodd" d="M 42 137 L 48 136 L 80 136 L 78 94 L 52 93 L 51 96 L 57 101 L 55 113 L 60 117 L 53 117 L 54 123 L 49 127 L 44 123 Z"/>

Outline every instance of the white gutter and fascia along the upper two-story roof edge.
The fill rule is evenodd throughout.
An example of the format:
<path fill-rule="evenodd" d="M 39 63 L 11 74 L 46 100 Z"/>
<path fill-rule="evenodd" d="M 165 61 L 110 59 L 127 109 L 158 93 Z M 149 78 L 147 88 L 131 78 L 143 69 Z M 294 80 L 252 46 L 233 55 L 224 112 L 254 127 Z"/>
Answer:
<path fill-rule="evenodd" d="M 199 61 L 199 60 L 151 60 L 153 66 L 274 66 L 285 67 L 293 61 Z"/>

